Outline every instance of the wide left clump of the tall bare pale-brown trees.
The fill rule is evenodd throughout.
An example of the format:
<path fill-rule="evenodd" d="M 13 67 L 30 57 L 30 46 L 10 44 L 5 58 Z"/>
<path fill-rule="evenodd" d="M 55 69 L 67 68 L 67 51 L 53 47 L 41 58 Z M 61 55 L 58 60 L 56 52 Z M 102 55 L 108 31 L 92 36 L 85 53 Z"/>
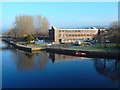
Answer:
<path fill-rule="evenodd" d="M 17 36 L 33 34 L 33 17 L 28 15 L 16 16 L 15 29 L 17 30 Z"/>

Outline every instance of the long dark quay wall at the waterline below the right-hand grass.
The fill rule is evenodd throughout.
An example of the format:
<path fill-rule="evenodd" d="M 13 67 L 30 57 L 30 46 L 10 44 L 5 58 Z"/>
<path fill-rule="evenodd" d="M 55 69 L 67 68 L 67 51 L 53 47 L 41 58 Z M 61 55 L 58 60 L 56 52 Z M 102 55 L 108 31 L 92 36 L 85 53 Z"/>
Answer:
<path fill-rule="evenodd" d="M 68 50 L 68 49 L 62 49 L 62 48 L 46 48 L 47 52 L 50 53 L 56 53 L 56 54 L 65 54 L 65 55 L 73 55 L 76 56 L 75 52 L 81 52 L 86 53 L 86 55 L 82 57 L 90 57 L 90 58 L 119 58 L 120 59 L 120 53 L 109 53 L 109 52 L 95 52 L 95 51 L 81 51 L 81 50 Z"/>

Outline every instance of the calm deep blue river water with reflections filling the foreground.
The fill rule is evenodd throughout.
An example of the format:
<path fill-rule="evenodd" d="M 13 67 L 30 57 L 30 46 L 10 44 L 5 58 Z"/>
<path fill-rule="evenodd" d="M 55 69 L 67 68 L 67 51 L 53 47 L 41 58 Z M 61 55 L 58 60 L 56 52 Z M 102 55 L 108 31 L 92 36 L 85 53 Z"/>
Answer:
<path fill-rule="evenodd" d="M 1 46 L 5 46 L 3 42 Z M 0 51 L 1 52 L 1 51 Z M 118 88 L 120 61 L 2 50 L 3 88 Z"/>

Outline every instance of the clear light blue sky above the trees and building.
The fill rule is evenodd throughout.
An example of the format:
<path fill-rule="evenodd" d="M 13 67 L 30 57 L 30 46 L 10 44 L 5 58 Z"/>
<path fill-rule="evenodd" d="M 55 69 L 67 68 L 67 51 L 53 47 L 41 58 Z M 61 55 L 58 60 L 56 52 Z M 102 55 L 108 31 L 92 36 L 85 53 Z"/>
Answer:
<path fill-rule="evenodd" d="M 108 26 L 111 22 L 118 20 L 118 3 L 2 2 L 0 29 L 4 32 L 13 27 L 15 16 L 19 15 L 42 15 L 48 18 L 51 26 L 59 28 Z"/>

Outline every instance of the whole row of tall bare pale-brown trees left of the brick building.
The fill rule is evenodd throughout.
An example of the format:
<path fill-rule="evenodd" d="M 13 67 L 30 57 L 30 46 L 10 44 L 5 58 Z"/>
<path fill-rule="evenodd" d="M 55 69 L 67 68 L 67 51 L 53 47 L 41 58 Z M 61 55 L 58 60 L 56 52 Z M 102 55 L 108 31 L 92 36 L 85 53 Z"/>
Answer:
<path fill-rule="evenodd" d="M 45 36 L 48 34 L 49 26 L 48 19 L 41 15 L 19 15 L 15 17 L 13 28 L 9 29 L 5 34 L 12 37 L 23 37 L 28 34 Z"/>

